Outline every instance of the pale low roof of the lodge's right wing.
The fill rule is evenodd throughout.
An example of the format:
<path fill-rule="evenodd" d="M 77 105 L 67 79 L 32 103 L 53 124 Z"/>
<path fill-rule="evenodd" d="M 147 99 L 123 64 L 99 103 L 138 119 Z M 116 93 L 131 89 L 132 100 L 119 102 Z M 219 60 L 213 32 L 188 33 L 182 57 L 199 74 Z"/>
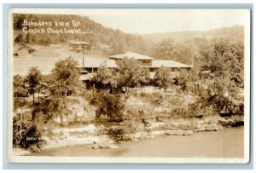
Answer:
<path fill-rule="evenodd" d="M 191 66 L 171 60 L 153 60 L 151 66 L 143 66 L 143 67 L 153 67 L 158 68 L 160 66 L 166 66 L 170 68 L 191 68 Z"/>

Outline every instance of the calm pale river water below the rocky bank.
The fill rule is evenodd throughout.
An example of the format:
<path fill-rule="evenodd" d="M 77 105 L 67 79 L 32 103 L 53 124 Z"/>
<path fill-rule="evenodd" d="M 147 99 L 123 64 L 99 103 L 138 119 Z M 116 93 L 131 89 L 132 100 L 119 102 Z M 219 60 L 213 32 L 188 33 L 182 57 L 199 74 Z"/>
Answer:
<path fill-rule="evenodd" d="M 83 157 L 243 158 L 243 127 L 192 136 L 157 136 L 143 141 L 121 141 L 118 149 L 60 147 L 32 155 Z"/>

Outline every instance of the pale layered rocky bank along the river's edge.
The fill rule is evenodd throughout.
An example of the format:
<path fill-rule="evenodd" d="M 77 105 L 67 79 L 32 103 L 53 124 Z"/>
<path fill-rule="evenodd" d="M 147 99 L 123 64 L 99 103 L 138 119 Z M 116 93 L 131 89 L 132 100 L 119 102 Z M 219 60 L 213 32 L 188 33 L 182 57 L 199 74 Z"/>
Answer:
<path fill-rule="evenodd" d="M 137 130 L 132 133 L 117 134 L 118 139 L 123 141 L 140 141 L 154 138 L 156 136 L 192 136 L 201 131 L 220 131 L 226 127 L 241 124 L 241 118 L 203 118 L 203 119 L 175 119 L 166 122 L 150 123 L 147 127 L 143 124 L 135 123 Z M 124 123 L 105 125 L 105 124 L 86 124 L 82 127 L 57 128 L 42 131 L 43 141 L 41 150 L 55 147 L 70 147 L 84 145 L 91 149 L 99 148 L 118 148 L 117 138 L 109 135 L 109 131 L 124 131 Z M 30 151 L 40 152 L 40 151 Z M 25 152 L 27 154 L 27 151 Z M 24 153 L 15 152 L 15 155 Z"/>

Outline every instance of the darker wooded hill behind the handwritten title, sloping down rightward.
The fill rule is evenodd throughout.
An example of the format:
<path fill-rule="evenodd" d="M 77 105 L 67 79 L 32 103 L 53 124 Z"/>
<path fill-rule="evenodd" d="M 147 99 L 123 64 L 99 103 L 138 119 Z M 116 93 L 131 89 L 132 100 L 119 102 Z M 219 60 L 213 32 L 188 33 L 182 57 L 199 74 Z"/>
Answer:
<path fill-rule="evenodd" d="M 24 20 L 28 21 L 47 21 L 55 25 L 55 20 L 63 22 L 71 22 L 73 20 L 79 21 L 79 29 L 83 32 L 90 32 L 84 34 L 73 33 L 24 33 L 22 32 L 22 24 Z M 38 26 L 26 26 L 27 29 L 38 28 Z M 45 30 L 49 26 L 40 26 Z M 55 29 L 62 26 L 54 26 Z M 76 29 L 74 26 L 69 26 L 68 29 Z M 14 30 L 15 43 L 65 43 L 71 40 L 86 41 L 91 45 L 107 44 L 111 48 L 110 54 L 119 54 L 125 50 L 135 51 L 137 53 L 144 53 L 146 49 L 145 42 L 142 37 L 127 34 L 119 30 L 113 30 L 90 20 L 88 17 L 80 15 L 67 14 L 14 14 Z"/>

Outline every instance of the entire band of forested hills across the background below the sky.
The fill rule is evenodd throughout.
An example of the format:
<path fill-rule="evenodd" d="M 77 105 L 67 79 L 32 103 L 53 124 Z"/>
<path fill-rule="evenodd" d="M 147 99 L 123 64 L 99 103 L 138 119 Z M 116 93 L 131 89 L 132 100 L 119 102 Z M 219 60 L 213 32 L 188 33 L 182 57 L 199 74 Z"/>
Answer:
<path fill-rule="evenodd" d="M 55 26 L 56 21 L 79 21 L 79 27 L 68 26 L 70 30 L 80 29 L 83 33 L 26 33 L 23 31 L 24 20 L 51 22 L 52 27 L 60 30 L 63 26 Z M 49 26 L 40 26 L 47 30 Z M 26 26 L 37 29 L 38 26 Z M 243 26 L 218 28 L 210 31 L 185 31 L 153 33 L 147 35 L 128 34 L 113 30 L 96 23 L 86 16 L 67 14 L 14 14 L 14 39 L 15 43 L 36 43 L 49 45 L 49 43 L 68 43 L 73 40 L 85 41 L 95 49 L 102 49 L 102 55 L 120 54 L 125 51 L 134 51 L 139 54 L 149 55 L 157 59 L 179 61 L 192 65 L 199 50 L 209 47 L 225 39 L 232 43 L 243 43 Z M 107 48 L 107 49 L 106 49 Z"/>

